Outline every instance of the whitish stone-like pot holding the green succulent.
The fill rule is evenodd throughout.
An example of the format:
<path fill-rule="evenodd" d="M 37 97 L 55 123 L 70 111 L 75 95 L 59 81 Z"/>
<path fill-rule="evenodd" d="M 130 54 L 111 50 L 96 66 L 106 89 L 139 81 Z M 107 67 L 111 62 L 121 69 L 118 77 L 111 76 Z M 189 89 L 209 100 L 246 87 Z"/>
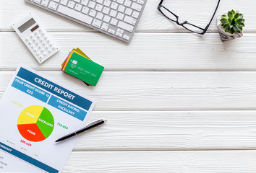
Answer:
<path fill-rule="evenodd" d="M 224 28 L 221 26 L 221 15 L 217 17 L 217 27 L 218 27 L 218 33 L 220 34 L 221 41 L 229 41 L 233 40 L 235 38 L 239 38 L 243 36 L 243 32 L 234 32 L 234 34 L 231 34 L 230 32 L 225 32 Z"/>

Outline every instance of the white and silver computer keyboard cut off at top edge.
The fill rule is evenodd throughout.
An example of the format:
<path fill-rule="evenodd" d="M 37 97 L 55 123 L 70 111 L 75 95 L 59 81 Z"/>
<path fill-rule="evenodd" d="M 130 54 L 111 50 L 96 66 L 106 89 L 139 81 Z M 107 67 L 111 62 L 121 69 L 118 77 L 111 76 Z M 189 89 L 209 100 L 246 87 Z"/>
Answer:
<path fill-rule="evenodd" d="M 119 40 L 130 42 L 147 0 L 25 0 Z"/>

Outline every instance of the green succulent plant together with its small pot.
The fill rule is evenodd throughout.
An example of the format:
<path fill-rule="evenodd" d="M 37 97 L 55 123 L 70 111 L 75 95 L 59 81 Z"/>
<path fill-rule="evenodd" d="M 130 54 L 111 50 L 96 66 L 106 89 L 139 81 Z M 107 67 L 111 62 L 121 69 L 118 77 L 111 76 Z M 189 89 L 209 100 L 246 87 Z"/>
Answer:
<path fill-rule="evenodd" d="M 242 37 L 245 21 L 243 17 L 243 14 L 235 12 L 234 9 L 217 17 L 218 32 L 222 41 Z"/>

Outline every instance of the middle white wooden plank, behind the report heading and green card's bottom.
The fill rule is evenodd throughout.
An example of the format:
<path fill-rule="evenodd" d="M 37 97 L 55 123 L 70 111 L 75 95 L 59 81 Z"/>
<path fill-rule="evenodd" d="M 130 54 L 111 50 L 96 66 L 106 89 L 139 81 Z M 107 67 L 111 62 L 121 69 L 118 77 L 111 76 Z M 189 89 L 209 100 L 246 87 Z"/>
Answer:
<path fill-rule="evenodd" d="M 4 91 L 13 72 L 0 72 Z M 255 110 L 256 72 L 109 72 L 88 87 L 63 72 L 56 81 L 98 100 L 95 110 Z"/>

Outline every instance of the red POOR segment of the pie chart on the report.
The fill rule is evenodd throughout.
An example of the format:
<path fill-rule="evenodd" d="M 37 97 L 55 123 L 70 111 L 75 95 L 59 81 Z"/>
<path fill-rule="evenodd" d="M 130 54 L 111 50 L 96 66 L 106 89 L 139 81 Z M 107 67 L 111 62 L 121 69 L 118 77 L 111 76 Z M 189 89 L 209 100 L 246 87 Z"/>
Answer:
<path fill-rule="evenodd" d="M 20 131 L 20 134 L 24 138 L 29 139 L 29 141 L 39 142 L 46 139 L 46 137 L 43 136 L 43 133 L 40 131 L 38 125 L 36 124 L 18 125 L 18 129 Z"/>

